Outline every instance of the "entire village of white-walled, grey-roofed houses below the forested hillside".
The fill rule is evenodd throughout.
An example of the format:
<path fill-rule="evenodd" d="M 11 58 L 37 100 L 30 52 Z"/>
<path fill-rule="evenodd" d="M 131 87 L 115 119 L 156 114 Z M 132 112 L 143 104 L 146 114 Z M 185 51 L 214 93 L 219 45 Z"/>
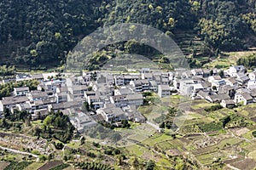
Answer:
<path fill-rule="evenodd" d="M 52 73 L 20 74 L 15 81 L 38 80 L 38 89 L 14 88 L 12 96 L 0 100 L 0 112 L 4 108 L 13 112 L 29 111 L 36 120 L 47 116 L 49 111 L 62 111 L 70 116 L 79 131 L 83 131 L 102 121 L 145 122 L 137 107 L 143 105 L 142 93 L 148 91 L 160 98 L 175 92 L 229 108 L 255 101 L 256 71 L 247 73 L 244 66 L 233 65 L 222 72 L 222 77 L 219 72 L 208 69 L 190 71 L 181 68 L 172 72 L 143 69 L 127 74 L 84 72 L 79 77 L 66 75 L 60 79 L 52 78 L 56 75 Z M 89 105 L 89 111 L 84 111 L 84 104 Z"/>

